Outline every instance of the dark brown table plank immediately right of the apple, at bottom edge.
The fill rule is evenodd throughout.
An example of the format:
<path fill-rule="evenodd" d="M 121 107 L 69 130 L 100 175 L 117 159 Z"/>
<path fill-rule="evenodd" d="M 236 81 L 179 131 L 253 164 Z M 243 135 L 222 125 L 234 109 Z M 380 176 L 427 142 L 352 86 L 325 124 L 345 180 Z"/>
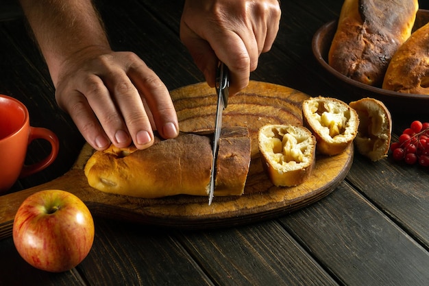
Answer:
<path fill-rule="evenodd" d="M 96 219 L 88 257 L 77 266 L 88 285 L 212 285 L 171 233 Z"/>

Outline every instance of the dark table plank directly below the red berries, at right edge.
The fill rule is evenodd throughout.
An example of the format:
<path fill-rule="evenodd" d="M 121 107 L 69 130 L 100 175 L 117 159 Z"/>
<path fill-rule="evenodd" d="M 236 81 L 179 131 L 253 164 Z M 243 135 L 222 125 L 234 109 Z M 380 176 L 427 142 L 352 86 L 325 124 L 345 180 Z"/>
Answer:
<path fill-rule="evenodd" d="M 354 161 L 347 180 L 429 249 L 429 173 L 424 167 L 363 158 Z"/>

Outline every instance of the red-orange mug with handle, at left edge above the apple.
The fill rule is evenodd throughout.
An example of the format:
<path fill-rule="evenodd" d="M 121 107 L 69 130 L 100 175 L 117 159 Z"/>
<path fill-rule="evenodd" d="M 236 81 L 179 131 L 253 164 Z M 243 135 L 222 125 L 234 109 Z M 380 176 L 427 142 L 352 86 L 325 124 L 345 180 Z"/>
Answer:
<path fill-rule="evenodd" d="M 24 165 L 27 147 L 34 139 L 51 143 L 51 153 L 32 165 Z M 8 191 L 18 178 L 45 169 L 57 158 L 59 141 L 46 128 L 29 126 L 29 113 L 22 102 L 0 95 L 0 193 Z"/>

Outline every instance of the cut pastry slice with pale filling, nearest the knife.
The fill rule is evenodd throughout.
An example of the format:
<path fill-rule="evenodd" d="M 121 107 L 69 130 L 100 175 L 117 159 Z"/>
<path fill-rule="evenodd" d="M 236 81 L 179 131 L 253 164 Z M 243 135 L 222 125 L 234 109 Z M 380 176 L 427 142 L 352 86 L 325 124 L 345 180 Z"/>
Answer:
<path fill-rule="evenodd" d="M 258 147 L 262 165 L 278 187 L 301 184 L 315 165 L 316 139 L 304 126 L 262 126 Z"/>

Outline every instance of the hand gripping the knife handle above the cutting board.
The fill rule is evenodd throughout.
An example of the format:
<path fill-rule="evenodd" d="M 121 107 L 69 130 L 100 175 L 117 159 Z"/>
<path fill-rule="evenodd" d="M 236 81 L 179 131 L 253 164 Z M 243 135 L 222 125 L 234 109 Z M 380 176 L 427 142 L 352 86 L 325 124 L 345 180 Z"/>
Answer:
<path fill-rule="evenodd" d="M 180 38 L 210 86 L 217 62 L 226 64 L 234 95 L 249 84 L 260 54 L 271 49 L 280 14 L 278 0 L 186 0 Z"/>

